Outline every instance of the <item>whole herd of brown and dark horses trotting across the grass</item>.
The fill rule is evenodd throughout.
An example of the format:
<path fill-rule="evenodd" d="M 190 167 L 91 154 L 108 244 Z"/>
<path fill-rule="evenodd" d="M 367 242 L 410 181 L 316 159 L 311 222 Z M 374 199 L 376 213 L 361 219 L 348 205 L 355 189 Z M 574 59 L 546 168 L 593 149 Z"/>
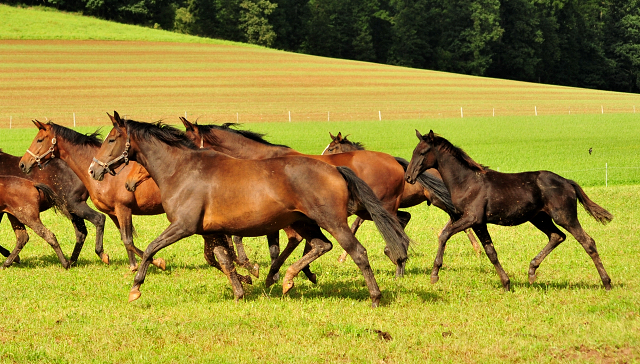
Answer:
<path fill-rule="evenodd" d="M 286 294 L 301 271 L 316 283 L 310 263 L 332 249 L 324 230 L 344 249 L 341 261 L 348 255 L 358 266 L 376 307 L 380 288 L 355 234 L 364 220 L 372 220 L 385 241 L 384 253 L 401 277 L 411 243 L 404 228 L 411 215 L 399 209 L 427 202 L 450 217 L 438 237 L 432 283 L 438 281 L 447 241 L 466 231 L 476 253 L 482 245 L 504 289 L 510 290 L 487 224 L 529 221 L 549 238 L 529 265 L 530 283 L 544 258 L 566 238 L 557 224 L 584 247 L 605 289 L 611 289 L 595 242 L 578 221 L 577 202 L 603 224 L 613 215 L 591 201 L 576 182 L 548 171 L 493 171 L 433 131 L 422 135 L 416 130 L 419 143 L 407 162 L 368 151 L 340 133 L 330 134 L 331 143 L 321 155 L 307 155 L 272 144 L 263 134 L 236 124 L 199 125 L 180 118 L 186 128 L 182 131 L 161 122 L 123 119 L 117 112 L 109 117 L 113 129 L 104 140 L 97 132 L 85 135 L 34 120 L 38 132 L 22 158 L 0 151 L 0 220 L 6 213 L 17 238 L 13 251 L 0 247 L 0 254 L 7 257 L 3 268 L 19 262 L 29 239 L 25 225 L 47 241 L 62 266 L 69 268 L 78 260 L 87 236 L 85 220 L 96 228 L 96 254 L 109 264 L 103 249 L 106 218 L 87 205 L 90 197 L 119 229 L 129 268 L 137 271 L 129 301 L 140 297 L 150 264 L 165 269 L 164 259 L 156 254 L 194 234 L 203 237 L 206 261 L 226 275 L 236 300 L 244 296 L 243 283 L 251 284 L 251 275 L 259 276 L 242 237 L 267 237 L 271 256 L 267 286 L 280 279 L 280 268 L 304 240 L 302 258 L 287 268 L 282 280 Z M 49 208 L 62 212 L 75 229 L 76 244 L 68 260 L 55 235 L 40 221 L 39 213 Z M 162 213 L 169 226 L 140 250 L 133 242 L 132 215 Z M 357 216 L 351 227 L 350 215 Z M 288 240 L 282 251 L 280 230 Z M 236 266 L 250 275 L 239 274 Z"/>

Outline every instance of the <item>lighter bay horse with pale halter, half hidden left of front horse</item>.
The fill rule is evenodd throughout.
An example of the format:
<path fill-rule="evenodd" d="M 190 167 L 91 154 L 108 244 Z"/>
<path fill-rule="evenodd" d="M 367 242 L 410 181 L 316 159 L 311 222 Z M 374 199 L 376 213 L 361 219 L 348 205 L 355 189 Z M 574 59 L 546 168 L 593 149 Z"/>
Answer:
<path fill-rule="evenodd" d="M 137 163 L 131 163 L 125 166 L 119 173 L 113 173 L 113 176 L 107 177 L 104 183 L 98 183 L 90 178 L 87 174 L 87 168 L 91 163 L 93 154 L 100 148 L 101 141 L 98 139 L 98 132 L 90 135 L 80 134 L 72 129 L 62 125 L 48 122 L 46 124 L 37 120 L 33 121 L 38 128 L 38 133 L 34 137 L 28 152 L 20 160 L 20 169 L 25 173 L 29 173 L 35 163 L 44 161 L 45 165 L 49 165 L 49 161 L 55 160 L 54 156 L 58 156 L 61 163 L 66 163 L 75 175 L 82 181 L 91 196 L 91 200 L 96 208 L 106 213 L 114 222 L 120 236 L 127 249 L 129 257 L 129 268 L 132 271 L 137 269 L 135 255 L 142 256 L 142 251 L 133 243 L 133 225 L 132 215 L 157 215 L 164 213 L 162 202 L 160 200 L 160 190 L 153 180 L 142 183 L 135 193 L 127 191 L 124 187 L 126 173 L 134 169 Z M 39 155 L 42 151 L 46 153 Z M 49 152 L 51 151 L 51 152 Z M 35 157 L 34 157 L 35 156 Z M 213 240 L 223 240 L 221 237 L 205 237 L 205 255 L 213 249 Z M 236 259 L 235 254 L 231 256 Z M 206 257 L 206 256 L 205 256 Z M 215 260 L 207 259 L 207 263 L 221 269 Z M 242 262 L 248 267 L 254 275 L 257 276 L 257 265 L 248 262 Z M 153 260 L 153 264 L 164 270 L 166 263 L 164 259 L 158 258 Z M 240 275 L 243 282 L 251 283 L 251 278 Z"/>

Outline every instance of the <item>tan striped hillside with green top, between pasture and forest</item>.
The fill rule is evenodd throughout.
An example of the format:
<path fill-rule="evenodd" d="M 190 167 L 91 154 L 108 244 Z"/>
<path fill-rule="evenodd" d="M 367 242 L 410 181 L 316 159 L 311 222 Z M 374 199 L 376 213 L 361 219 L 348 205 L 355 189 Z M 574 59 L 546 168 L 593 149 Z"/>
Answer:
<path fill-rule="evenodd" d="M 0 6 L 0 127 L 32 118 L 400 120 L 631 113 L 640 96 L 329 59 Z M 197 43 L 203 42 L 203 43 Z"/>

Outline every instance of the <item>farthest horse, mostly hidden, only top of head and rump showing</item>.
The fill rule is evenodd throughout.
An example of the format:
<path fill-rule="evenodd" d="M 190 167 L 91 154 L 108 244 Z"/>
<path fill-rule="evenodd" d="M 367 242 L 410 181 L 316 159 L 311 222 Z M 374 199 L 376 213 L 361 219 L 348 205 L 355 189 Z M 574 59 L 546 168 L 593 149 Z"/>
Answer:
<path fill-rule="evenodd" d="M 354 150 L 365 150 L 365 147 L 360 142 L 353 142 L 347 139 L 348 135 L 342 136 L 341 132 L 338 132 L 338 135 L 334 136 L 329 133 L 331 137 L 331 142 L 327 145 L 326 148 L 322 151 L 323 155 L 327 154 L 338 154 L 345 152 L 352 152 Z M 402 166 L 402 168 L 406 171 L 409 162 L 400 157 L 395 157 L 398 163 Z M 424 173 L 433 176 L 433 178 L 437 178 L 442 180 L 440 173 L 436 169 L 430 168 L 424 171 Z M 451 196 L 449 195 L 449 191 L 446 189 L 442 190 L 434 190 L 433 184 L 424 183 L 424 173 L 420 175 L 418 178 L 419 183 L 406 183 L 404 185 L 404 192 L 402 193 L 402 199 L 400 201 L 400 208 L 407 208 L 419 205 L 423 202 L 427 202 L 427 205 L 433 205 L 440 210 L 446 212 L 451 216 L 451 212 L 454 210 L 451 206 Z M 364 220 L 357 218 L 356 221 L 353 222 L 352 230 L 357 231 Z M 451 221 L 447 222 L 447 225 L 450 224 Z M 473 250 L 476 252 L 476 256 L 480 256 L 480 245 L 476 240 L 476 237 L 473 235 L 471 229 L 466 229 L 465 233 L 471 242 L 471 246 Z M 344 261 L 346 258 L 345 254 L 342 254 L 339 258 L 339 261 Z"/>

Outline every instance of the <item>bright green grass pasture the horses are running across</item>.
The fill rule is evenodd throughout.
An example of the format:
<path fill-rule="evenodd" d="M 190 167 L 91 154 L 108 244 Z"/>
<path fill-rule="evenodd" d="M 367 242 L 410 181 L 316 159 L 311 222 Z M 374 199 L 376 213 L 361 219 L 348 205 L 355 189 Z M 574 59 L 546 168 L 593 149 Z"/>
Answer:
<path fill-rule="evenodd" d="M 63 270 L 52 250 L 34 237 L 22 263 L 0 272 L 0 361 L 71 362 L 637 362 L 640 361 L 640 187 L 637 169 L 611 168 L 609 186 L 582 169 L 633 167 L 638 163 L 638 124 L 629 115 L 404 120 L 398 122 L 256 123 L 274 143 L 319 153 L 328 132 L 351 134 L 367 147 L 410 158 L 414 129 L 429 129 L 464 148 L 480 163 L 504 171 L 550 169 L 576 180 L 615 218 L 597 224 L 579 207 L 580 220 L 596 240 L 613 289 L 604 291 L 593 263 L 573 238 L 541 265 L 529 285 L 529 261 L 546 244 L 531 225 L 490 226 L 513 292 L 501 290 L 493 266 L 476 257 L 465 236 L 452 238 L 440 282 L 429 283 L 436 236 L 447 216 L 426 204 L 411 208 L 407 233 L 415 241 L 407 275 L 396 280 L 373 224 L 358 233 L 368 249 L 382 305 L 370 308 L 357 267 L 336 261 L 334 249 L 312 264 L 313 285 L 303 277 L 283 297 L 264 286 L 268 250 L 264 238 L 246 239 L 262 277 L 234 303 L 226 278 L 206 265 L 199 237 L 161 251 L 165 272 L 150 269 L 142 297 L 127 294 L 133 274 L 119 234 L 107 222 L 105 250 L 112 264 L 93 253 L 94 229 L 76 267 Z M 105 125 L 106 133 L 110 127 Z M 82 128 L 83 132 L 94 127 Z M 0 146 L 22 155 L 35 129 L 3 130 Z M 588 154 L 588 149 L 593 153 Z M 575 171 L 575 172 L 563 172 Z M 604 170 L 602 171 L 604 172 Z M 616 177 L 616 173 L 620 173 Z M 69 222 L 51 212 L 43 219 L 70 254 Z M 166 226 L 163 216 L 135 217 L 136 244 L 145 247 Z M 8 224 L 0 244 L 13 246 Z M 299 257 L 301 249 L 293 256 Z M 284 272 L 284 270 L 282 271 Z M 376 330 L 388 333 L 383 339 Z"/>

